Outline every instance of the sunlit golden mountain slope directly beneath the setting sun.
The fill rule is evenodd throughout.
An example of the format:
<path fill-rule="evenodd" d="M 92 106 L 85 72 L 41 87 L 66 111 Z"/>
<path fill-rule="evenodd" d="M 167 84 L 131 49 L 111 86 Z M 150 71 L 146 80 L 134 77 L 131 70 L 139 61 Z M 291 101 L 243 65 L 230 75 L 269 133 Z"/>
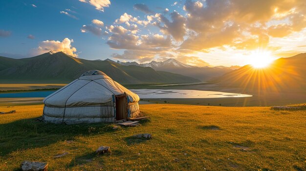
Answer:
<path fill-rule="evenodd" d="M 306 90 L 306 53 L 279 58 L 261 69 L 245 65 L 229 72 L 213 82 L 227 87 L 241 87 L 265 91 Z"/>

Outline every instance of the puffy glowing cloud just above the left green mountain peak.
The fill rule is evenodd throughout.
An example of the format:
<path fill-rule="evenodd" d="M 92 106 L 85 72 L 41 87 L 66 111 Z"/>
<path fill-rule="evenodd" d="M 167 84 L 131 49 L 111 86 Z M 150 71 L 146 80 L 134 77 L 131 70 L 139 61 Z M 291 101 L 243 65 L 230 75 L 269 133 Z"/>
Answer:
<path fill-rule="evenodd" d="M 37 48 L 37 51 L 40 53 L 45 53 L 49 51 L 54 52 L 64 52 L 67 55 L 70 55 L 72 57 L 78 57 L 75 52 L 77 51 L 75 47 L 71 46 L 71 43 L 73 42 L 73 39 L 64 38 L 63 41 L 55 41 L 55 40 L 45 40 L 41 41 L 39 43 L 39 47 Z"/>

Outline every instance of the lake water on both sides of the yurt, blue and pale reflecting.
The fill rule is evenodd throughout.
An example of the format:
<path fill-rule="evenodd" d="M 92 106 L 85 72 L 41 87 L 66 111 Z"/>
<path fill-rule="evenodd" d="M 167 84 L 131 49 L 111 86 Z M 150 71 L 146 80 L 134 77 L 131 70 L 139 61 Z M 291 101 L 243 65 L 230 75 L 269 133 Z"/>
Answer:
<path fill-rule="evenodd" d="M 140 98 L 221 98 L 250 97 L 252 95 L 212 92 L 200 90 L 131 89 Z M 23 93 L 2 93 L 0 98 L 46 97 L 55 91 L 34 91 Z"/>

